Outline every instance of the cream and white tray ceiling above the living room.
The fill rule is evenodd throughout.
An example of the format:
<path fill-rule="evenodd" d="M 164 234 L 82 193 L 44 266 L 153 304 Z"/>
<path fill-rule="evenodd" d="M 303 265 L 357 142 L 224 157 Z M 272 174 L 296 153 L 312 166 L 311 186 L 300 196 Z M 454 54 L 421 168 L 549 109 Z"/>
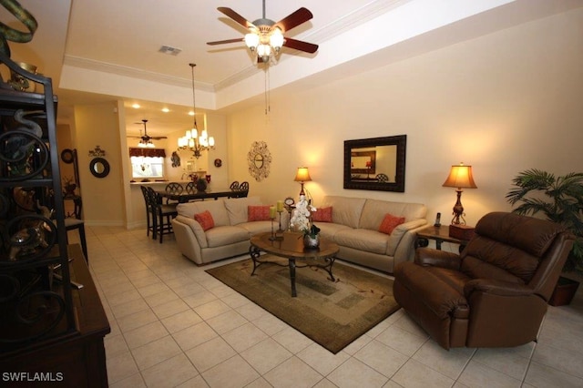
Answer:
<path fill-rule="evenodd" d="M 188 128 L 192 118 L 189 63 L 196 63 L 197 110 L 228 111 L 257 99 L 264 72 L 253 66 L 243 43 L 208 46 L 245 30 L 221 14 L 227 6 L 251 22 L 261 0 L 20 0 L 39 27 L 28 44 L 10 43 L 12 58 L 38 66 L 53 78 L 58 120 L 70 119 L 74 103 L 121 99 L 128 133 L 147 118 L 148 134 Z M 580 0 L 287 0 L 266 1 L 266 16 L 281 20 L 300 7 L 311 21 L 286 32 L 320 45 L 310 55 L 284 48 L 271 66 L 271 88 L 293 92 L 338 77 L 386 66 L 485 35 L 501 28 L 583 6 Z M 0 21 L 22 29 L 0 9 Z M 178 56 L 160 46 L 181 49 Z M 167 106 L 170 112 L 163 114 Z"/>

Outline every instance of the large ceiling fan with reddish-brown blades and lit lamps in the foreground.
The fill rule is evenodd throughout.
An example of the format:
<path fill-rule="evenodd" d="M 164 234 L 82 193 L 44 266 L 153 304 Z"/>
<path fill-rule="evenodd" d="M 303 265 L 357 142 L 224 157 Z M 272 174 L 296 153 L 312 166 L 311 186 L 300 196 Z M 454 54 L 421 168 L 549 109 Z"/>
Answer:
<path fill-rule="evenodd" d="M 253 23 L 225 6 L 220 6 L 217 9 L 222 14 L 229 16 L 241 26 L 247 28 L 249 33 L 243 38 L 208 42 L 207 45 L 215 46 L 227 43 L 245 42 L 245 45 L 251 50 L 253 58 L 258 62 L 264 63 L 270 62 L 270 60 L 276 62 L 282 46 L 311 54 L 318 51 L 318 45 L 283 36 L 283 34 L 292 28 L 300 26 L 312 19 L 312 12 L 304 7 L 287 15 L 277 23 L 265 17 L 265 0 L 263 0 L 263 17 L 255 20 Z"/>

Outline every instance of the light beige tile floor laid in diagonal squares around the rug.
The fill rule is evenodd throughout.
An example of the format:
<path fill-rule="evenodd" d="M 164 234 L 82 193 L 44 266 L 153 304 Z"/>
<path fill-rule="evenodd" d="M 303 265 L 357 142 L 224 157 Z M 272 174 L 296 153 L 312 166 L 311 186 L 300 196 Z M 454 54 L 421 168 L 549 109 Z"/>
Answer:
<path fill-rule="evenodd" d="M 333 355 L 184 258 L 173 236 L 93 227 L 87 244 L 111 387 L 583 386 L 582 291 L 549 306 L 537 343 L 447 352 L 400 310 Z"/>

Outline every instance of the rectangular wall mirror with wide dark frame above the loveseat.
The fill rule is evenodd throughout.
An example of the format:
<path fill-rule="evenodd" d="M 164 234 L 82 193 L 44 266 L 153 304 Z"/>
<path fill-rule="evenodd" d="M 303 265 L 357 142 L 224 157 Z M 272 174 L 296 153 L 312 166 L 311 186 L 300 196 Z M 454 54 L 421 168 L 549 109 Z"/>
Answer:
<path fill-rule="evenodd" d="M 344 189 L 404 192 L 407 136 L 344 141 Z"/>

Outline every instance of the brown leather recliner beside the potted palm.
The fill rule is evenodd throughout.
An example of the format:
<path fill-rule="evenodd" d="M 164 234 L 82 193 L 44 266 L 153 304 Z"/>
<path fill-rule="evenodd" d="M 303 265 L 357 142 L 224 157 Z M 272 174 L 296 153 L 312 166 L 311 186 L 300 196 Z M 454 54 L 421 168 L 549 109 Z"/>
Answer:
<path fill-rule="evenodd" d="M 419 248 L 400 263 L 394 298 L 445 349 L 535 341 L 573 241 L 556 223 L 489 213 L 460 255 Z"/>

